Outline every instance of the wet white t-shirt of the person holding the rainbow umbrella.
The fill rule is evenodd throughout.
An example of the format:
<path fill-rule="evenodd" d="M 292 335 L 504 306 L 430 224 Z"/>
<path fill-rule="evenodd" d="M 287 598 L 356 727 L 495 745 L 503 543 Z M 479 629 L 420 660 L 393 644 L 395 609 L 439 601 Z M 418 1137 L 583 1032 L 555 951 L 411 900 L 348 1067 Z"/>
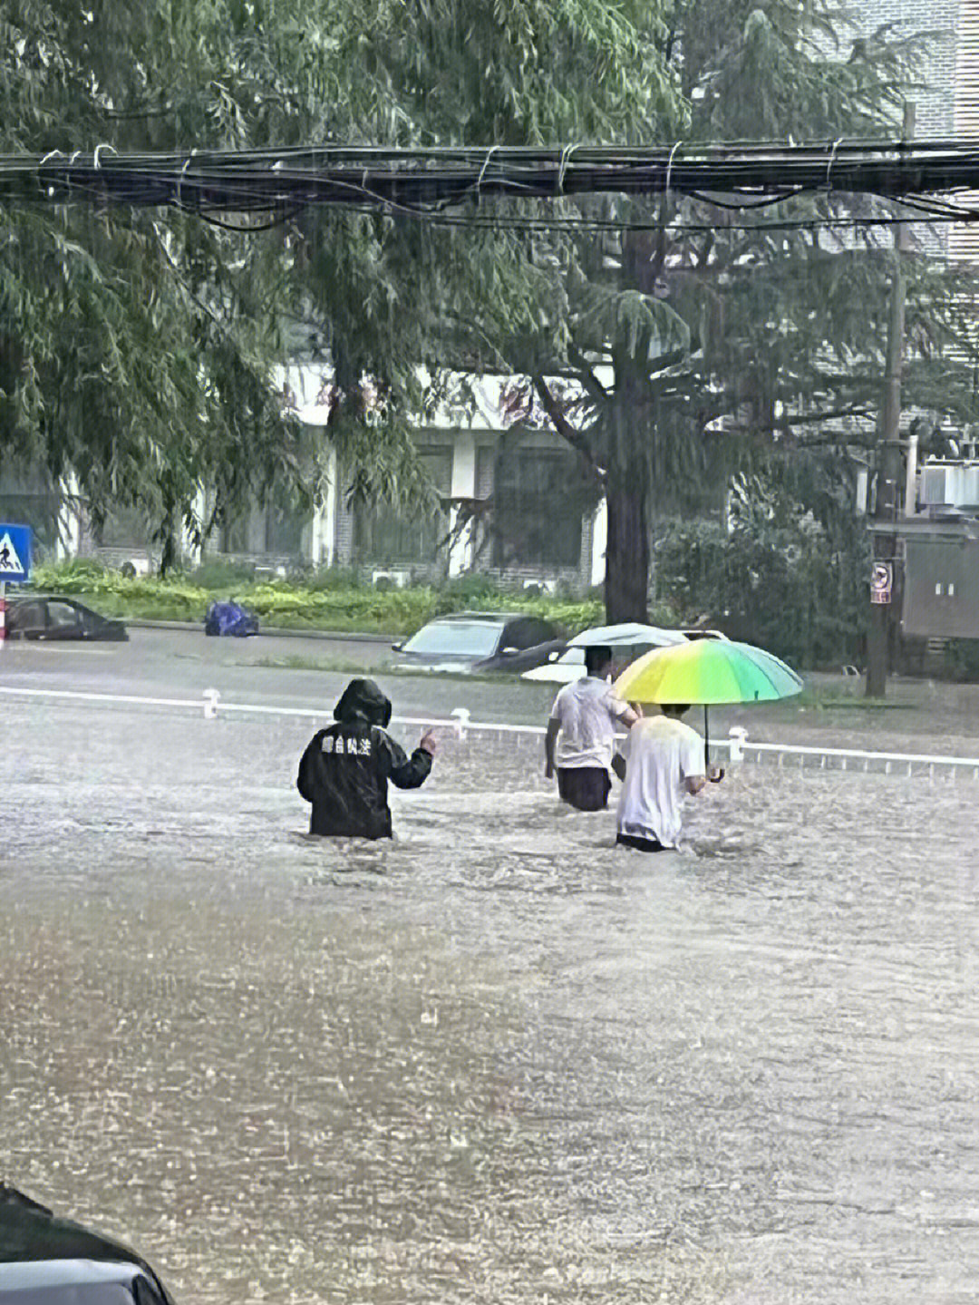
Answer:
<path fill-rule="evenodd" d="M 705 774 L 704 740 L 675 716 L 645 716 L 623 748 L 626 782 L 619 834 L 656 838 L 677 847 L 683 825 L 683 780 Z"/>

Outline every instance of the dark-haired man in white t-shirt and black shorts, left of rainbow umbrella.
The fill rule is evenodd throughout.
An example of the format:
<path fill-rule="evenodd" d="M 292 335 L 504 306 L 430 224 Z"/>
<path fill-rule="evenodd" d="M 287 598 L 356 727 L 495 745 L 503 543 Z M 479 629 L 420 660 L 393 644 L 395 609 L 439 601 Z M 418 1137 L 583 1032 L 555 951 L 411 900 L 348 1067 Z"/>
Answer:
<path fill-rule="evenodd" d="M 609 805 L 615 728 L 639 720 L 630 705 L 613 693 L 610 671 L 611 649 L 585 649 L 585 676 L 558 693 L 544 739 L 544 774 L 551 779 L 557 763 L 558 793 L 580 812 L 600 812 Z"/>

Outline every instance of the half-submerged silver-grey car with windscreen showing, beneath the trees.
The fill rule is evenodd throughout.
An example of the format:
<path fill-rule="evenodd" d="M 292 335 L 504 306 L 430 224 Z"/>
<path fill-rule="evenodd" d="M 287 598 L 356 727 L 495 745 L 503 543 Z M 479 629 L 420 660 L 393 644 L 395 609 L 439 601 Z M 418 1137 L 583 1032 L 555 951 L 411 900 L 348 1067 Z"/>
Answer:
<path fill-rule="evenodd" d="M 404 643 L 395 643 L 395 667 L 472 673 L 541 666 L 561 652 L 564 639 L 550 621 L 519 612 L 458 612 L 422 625 Z"/>

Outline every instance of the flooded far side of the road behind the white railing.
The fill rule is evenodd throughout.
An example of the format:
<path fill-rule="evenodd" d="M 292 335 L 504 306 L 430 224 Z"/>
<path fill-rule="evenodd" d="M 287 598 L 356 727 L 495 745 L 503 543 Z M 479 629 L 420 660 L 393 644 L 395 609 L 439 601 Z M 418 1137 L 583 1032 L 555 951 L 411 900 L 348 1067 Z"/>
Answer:
<path fill-rule="evenodd" d="M 379 638 L 215 639 L 188 630 L 142 628 L 130 636 L 129 643 L 9 643 L 1 654 L 0 688 L 201 701 L 206 689 L 215 688 L 228 702 L 329 714 L 351 675 L 377 675 L 399 715 L 445 718 L 454 707 L 465 707 L 473 720 L 532 726 L 546 722 L 558 689 L 510 676 L 390 675 L 391 647 Z M 811 702 L 799 705 L 795 699 L 712 709 L 712 736 L 726 737 L 730 726 L 738 724 L 757 741 L 979 756 L 979 685 L 894 679 L 888 706 L 867 710 L 862 707 L 862 681 L 842 675 L 808 680 L 830 696 L 836 703 L 832 710 L 813 710 Z M 845 706 L 847 701 L 855 706 Z"/>

